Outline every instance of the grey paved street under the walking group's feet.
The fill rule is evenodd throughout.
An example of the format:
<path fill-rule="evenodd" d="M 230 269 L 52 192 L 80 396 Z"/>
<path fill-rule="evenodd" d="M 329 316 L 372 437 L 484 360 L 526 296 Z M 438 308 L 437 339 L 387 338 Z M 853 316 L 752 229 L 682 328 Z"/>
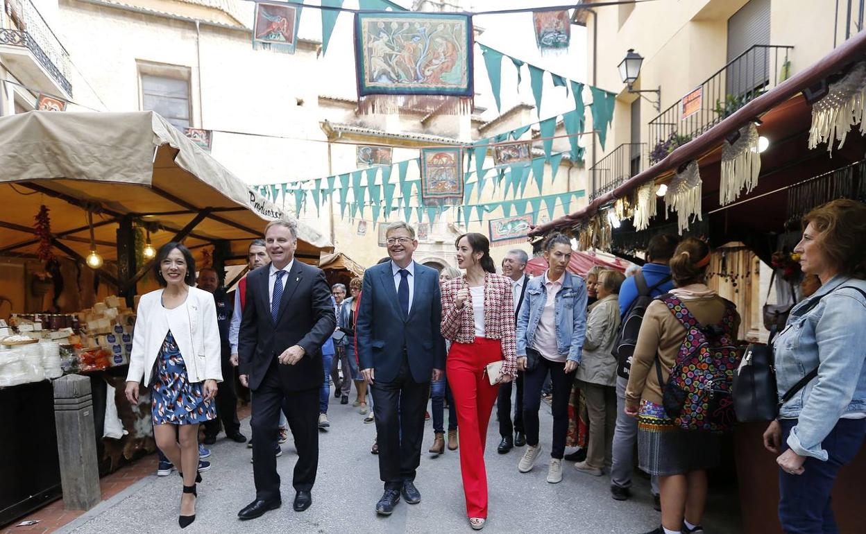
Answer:
<path fill-rule="evenodd" d="M 542 403 L 542 445 L 550 450 L 552 419 Z M 427 449 L 433 438 L 427 422 L 421 466 L 416 485 L 423 495 L 417 505 L 401 501 L 390 518 L 374 511 L 382 494 L 377 457 L 370 454 L 375 425 L 363 424 L 363 416 L 351 404 L 343 406 L 331 398 L 328 413 L 331 428 L 320 434 L 319 473 L 309 510 L 292 510 L 294 490 L 292 468 L 296 454 L 292 441 L 283 446 L 277 460 L 282 479 L 283 506 L 262 518 L 241 522 L 237 511 L 254 497 L 250 450 L 221 439 L 211 447 L 213 466 L 198 485 L 197 520 L 184 532 L 275 532 L 301 531 L 348 534 L 353 532 L 469 532 L 460 478 L 458 451 L 446 449 L 430 457 Z M 447 416 L 447 415 L 446 415 Z M 488 431 L 490 505 L 486 532 L 615 532 L 650 531 L 659 522 L 652 508 L 649 484 L 636 480 L 635 499 L 617 502 L 610 497 L 607 477 L 577 473 L 565 462 L 564 479 L 559 484 L 546 482 L 549 456 L 540 460 L 530 473 L 519 473 L 517 462 L 522 449 L 496 454 L 499 442 L 495 415 Z M 242 432 L 249 436 L 249 419 L 242 421 Z M 107 534 L 112 532 L 168 532 L 178 529 L 178 503 L 181 483 L 177 475 L 156 476 L 139 481 L 114 499 L 88 512 L 61 532 Z M 727 499 L 711 499 L 704 524 L 714 534 L 734 533 Z"/>

